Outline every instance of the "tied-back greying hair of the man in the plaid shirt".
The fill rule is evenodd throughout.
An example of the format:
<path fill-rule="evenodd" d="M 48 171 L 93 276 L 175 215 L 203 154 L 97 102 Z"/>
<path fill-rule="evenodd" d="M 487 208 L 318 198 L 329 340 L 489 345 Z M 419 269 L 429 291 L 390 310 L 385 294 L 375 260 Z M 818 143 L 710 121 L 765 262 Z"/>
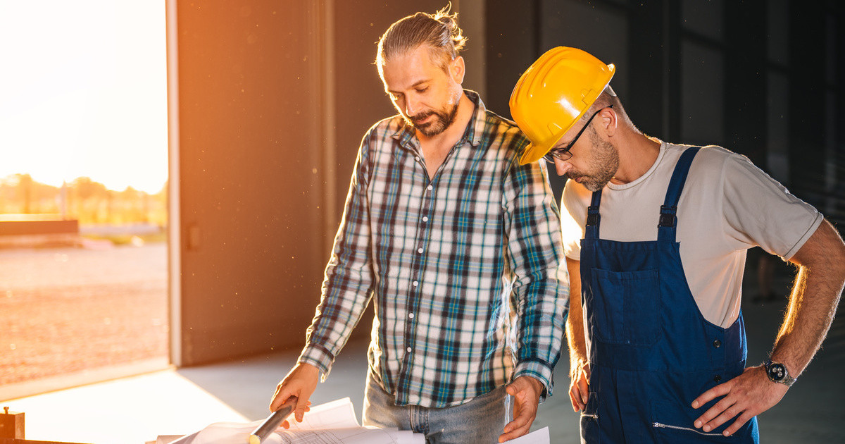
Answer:
<path fill-rule="evenodd" d="M 434 14 L 417 13 L 400 19 L 390 25 L 379 39 L 379 50 L 375 64 L 382 74 L 384 63 L 421 45 L 430 48 L 429 56 L 444 71 L 448 64 L 458 57 L 458 52 L 466 44 L 461 28 L 458 27 L 458 14 L 450 14 L 451 4 Z"/>

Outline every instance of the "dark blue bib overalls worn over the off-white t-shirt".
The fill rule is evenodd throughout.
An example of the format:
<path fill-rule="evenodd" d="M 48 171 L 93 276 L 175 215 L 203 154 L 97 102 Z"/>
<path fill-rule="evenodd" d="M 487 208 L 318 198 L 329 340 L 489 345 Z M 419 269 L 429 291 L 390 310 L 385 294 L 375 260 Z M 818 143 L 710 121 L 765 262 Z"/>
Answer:
<path fill-rule="evenodd" d="M 733 419 L 709 433 L 693 425 L 720 398 L 697 409 L 693 399 L 741 374 L 746 355 L 742 314 L 727 329 L 706 321 L 675 241 L 678 200 L 698 150 L 684 151 L 674 169 L 656 241 L 599 238 L 602 191 L 592 194 L 581 240 L 591 368 L 582 442 L 759 442 L 756 418 L 730 437 L 722 430 Z"/>

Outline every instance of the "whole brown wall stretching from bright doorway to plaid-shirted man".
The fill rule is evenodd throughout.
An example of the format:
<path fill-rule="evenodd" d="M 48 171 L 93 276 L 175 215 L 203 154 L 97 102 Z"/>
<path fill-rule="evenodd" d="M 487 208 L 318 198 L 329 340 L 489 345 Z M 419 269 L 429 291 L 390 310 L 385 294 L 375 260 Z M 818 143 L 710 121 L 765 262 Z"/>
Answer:
<path fill-rule="evenodd" d="M 357 147 L 395 113 L 375 42 L 441 3 L 177 1 L 182 365 L 303 346 Z"/>

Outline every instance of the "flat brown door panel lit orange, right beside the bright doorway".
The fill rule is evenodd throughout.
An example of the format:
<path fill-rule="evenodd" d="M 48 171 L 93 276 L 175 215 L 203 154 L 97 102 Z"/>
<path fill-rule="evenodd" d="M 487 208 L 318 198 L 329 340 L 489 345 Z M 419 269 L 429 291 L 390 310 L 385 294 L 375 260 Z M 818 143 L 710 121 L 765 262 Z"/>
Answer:
<path fill-rule="evenodd" d="M 301 343 L 313 315 L 306 4 L 177 3 L 183 365 Z"/>

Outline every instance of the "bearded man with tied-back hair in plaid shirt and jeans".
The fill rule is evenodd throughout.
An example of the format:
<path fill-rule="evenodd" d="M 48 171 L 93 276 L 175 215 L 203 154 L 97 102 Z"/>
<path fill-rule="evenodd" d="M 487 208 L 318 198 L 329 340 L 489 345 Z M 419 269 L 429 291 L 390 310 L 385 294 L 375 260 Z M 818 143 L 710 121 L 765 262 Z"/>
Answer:
<path fill-rule="evenodd" d="M 445 11 L 379 41 L 399 115 L 364 135 L 322 299 L 271 410 L 297 396 L 302 420 L 371 298 L 365 425 L 507 441 L 551 394 L 569 295 L 559 212 L 545 166 L 518 162 L 520 130 L 462 89 L 465 41 Z"/>

